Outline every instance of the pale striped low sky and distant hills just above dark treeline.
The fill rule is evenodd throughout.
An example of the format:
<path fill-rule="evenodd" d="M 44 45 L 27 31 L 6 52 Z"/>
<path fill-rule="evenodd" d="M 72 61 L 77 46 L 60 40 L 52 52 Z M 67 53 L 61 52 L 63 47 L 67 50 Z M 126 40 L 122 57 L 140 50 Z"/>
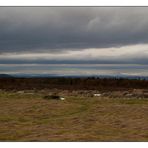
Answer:
<path fill-rule="evenodd" d="M 13 77 L 116 77 L 146 78 L 148 66 L 143 64 L 1 64 L 2 74 Z M 39 70 L 39 67 L 40 68 Z M 16 69 L 11 72 L 11 69 Z M 23 72 L 22 70 L 25 71 Z M 29 70 L 31 69 L 31 70 Z M 33 70 L 33 71 L 32 71 Z"/>

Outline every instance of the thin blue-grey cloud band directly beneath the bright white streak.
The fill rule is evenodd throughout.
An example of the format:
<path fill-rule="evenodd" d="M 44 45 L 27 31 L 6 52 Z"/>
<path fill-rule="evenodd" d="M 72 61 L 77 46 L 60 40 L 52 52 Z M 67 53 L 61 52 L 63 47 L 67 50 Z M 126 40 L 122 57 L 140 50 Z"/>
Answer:
<path fill-rule="evenodd" d="M 62 59 L 55 59 L 55 60 L 48 60 L 48 59 L 0 59 L 0 64 L 142 64 L 147 65 L 148 58 L 147 57 L 138 57 L 138 58 L 131 58 L 131 59 L 95 59 L 95 60 L 62 60 Z M 15 69 L 14 69 L 15 70 Z"/>

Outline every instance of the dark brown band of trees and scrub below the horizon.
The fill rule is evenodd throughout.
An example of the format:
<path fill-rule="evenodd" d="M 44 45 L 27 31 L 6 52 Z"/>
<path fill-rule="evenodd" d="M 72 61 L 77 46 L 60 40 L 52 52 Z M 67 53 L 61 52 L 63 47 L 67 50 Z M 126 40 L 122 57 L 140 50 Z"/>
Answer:
<path fill-rule="evenodd" d="M 19 87 L 18 87 L 19 86 Z M 147 80 L 117 78 L 0 78 L 0 89 L 121 90 L 148 89 Z"/>

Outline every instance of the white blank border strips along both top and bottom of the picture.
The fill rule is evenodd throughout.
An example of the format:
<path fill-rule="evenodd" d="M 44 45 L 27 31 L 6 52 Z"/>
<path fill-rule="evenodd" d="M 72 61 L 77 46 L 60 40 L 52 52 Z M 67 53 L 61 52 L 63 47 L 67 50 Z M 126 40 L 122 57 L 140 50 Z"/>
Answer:
<path fill-rule="evenodd" d="M 148 6 L 147 0 L 0 0 L 0 6 Z M 54 147 L 54 148 L 76 148 L 76 147 L 93 147 L 98 148 L 98 146 L 105 148 L 147 148 L 148 143 L 143 142 L 51 142 L 51 143 L 39 143 L 39 142 L 1 142 L 0 147 L 11 147 L 11 148 L 26 148 L 26 147 Z"/>

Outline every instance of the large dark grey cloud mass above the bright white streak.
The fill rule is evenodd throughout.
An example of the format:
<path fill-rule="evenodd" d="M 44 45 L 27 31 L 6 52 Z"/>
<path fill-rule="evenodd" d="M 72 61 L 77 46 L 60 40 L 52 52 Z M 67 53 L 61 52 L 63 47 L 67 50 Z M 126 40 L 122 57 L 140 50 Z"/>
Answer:
<path fill-rule="evenodd" d="M 0 52 L 148 43 L 148 7 L 0 7 Z"/>

